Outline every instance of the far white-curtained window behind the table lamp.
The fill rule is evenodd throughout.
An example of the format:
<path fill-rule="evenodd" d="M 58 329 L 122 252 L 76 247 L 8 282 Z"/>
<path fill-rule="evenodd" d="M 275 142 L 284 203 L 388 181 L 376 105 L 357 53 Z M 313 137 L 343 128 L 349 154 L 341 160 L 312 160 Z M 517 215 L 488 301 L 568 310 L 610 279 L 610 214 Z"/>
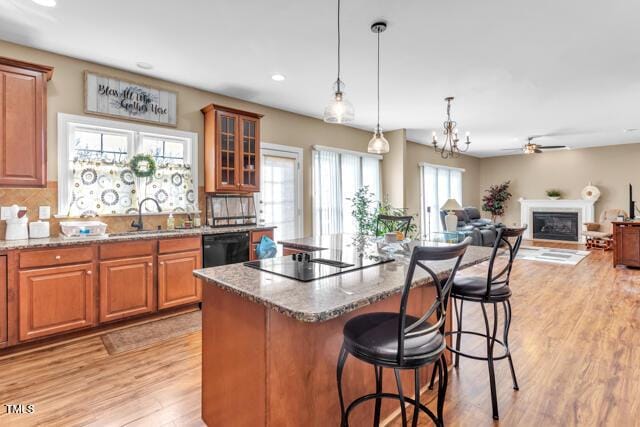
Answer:
<path fill-rule="evenodd" d="M 462 205 L 462 174 L 464 169 L 446 166 L 420 165 L 422 189 L 422 235 L 442 230 L 440 206 L 448 199 L 456 199 Z"/>

